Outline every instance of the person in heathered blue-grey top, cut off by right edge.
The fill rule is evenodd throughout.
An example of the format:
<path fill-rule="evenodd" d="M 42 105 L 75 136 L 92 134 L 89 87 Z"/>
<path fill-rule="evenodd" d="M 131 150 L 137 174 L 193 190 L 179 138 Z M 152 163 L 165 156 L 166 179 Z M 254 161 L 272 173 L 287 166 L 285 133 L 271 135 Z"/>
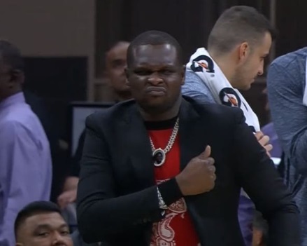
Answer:
<path fill-rule="evenodd" d="M 300 210 L 303 246 L 307 246 L 307 47 L 276 58 L 267 88 L 272 121 L 283 147 L 284 177 Z"/>

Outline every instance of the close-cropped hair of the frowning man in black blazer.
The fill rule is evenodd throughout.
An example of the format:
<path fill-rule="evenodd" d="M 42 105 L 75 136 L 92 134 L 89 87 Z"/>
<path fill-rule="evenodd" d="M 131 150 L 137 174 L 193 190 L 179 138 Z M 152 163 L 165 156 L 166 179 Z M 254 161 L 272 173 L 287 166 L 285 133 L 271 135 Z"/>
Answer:
<path fill-rule="evenodd" d="M 143 46 L 147 44 L 152 46 L 169 44 L 175 47 L 177 51 L 178 62 L 180 62 L 180 64 L 183 64 L 183 50 L 178 41 L 166 32 L 152 30 L 139 34 L 133 41 L 131 41 L 127 50 L 127 67 L 130 67 L 131 63 L 133 62 L 133 50 L 137 46 Z"/>

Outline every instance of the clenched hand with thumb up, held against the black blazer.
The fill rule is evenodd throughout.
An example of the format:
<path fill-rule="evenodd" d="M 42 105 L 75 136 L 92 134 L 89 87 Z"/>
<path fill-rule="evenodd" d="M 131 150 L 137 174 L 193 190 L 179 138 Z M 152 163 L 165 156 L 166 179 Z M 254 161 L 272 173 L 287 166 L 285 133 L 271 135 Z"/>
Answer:
<path fill-rule="evenodd" d="M 176 180 L 183 196 L 193 196 L 211 191 L 215 186 L 214 159 L 210 157 L 211 147 L 187 163 L 185 169 L 177 175 Z"/>

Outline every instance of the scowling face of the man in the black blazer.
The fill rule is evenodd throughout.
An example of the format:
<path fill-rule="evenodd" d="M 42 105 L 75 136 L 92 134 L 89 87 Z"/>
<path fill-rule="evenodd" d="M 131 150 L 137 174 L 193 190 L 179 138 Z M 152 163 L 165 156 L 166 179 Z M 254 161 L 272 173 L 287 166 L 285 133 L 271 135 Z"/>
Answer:
<path fill-rule="evenodd" d="M 132 97 L 150 114 L 162 114 L 173 107 L 181 95 L 185 69 L 170 44 L 141 45 L 133 50 L 127 69 Z"/>

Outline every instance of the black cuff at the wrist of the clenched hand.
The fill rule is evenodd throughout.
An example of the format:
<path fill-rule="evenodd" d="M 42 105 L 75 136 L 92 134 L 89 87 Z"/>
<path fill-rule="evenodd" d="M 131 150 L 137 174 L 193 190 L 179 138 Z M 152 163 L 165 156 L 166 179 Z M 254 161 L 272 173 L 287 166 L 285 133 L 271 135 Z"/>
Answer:
<path fill-rule="evenodd" d="M 164 203 L 167 206 L 175 203 L 176 200 L 179 200 L 183 197 L 183 193 L 181 193 L 175 178 L 169 179 L 168 181 L 159 184 L 158 189 L 161 193 Z"/>

